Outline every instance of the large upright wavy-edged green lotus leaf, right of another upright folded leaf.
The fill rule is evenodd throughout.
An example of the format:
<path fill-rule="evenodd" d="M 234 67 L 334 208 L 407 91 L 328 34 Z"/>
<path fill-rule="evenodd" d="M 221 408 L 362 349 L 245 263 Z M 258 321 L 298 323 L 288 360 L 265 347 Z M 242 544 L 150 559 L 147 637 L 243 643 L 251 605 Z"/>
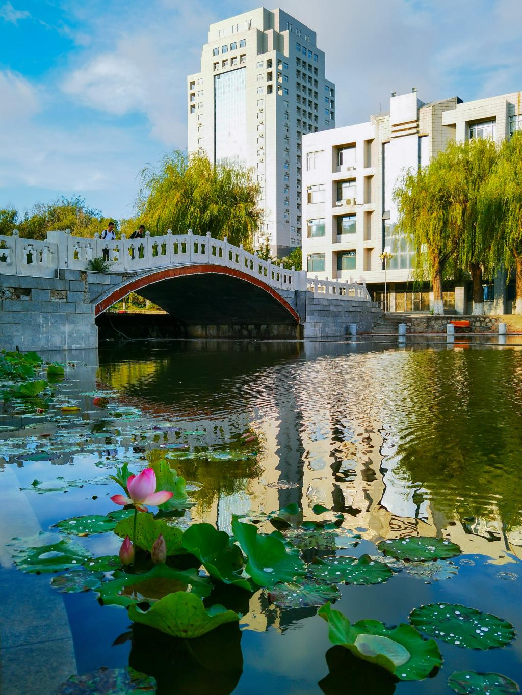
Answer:
<path fill-rule="evenodd" d="M 292 582 L 306 574 L 299 550 L 286 550 L 282 541 L 274 536 L 261 536 L 250 523 L 241 523 L 232 517 L 232 532 L 245 555 L 246 571 L 260 587 L 275 587 L 278 582 Z"/>

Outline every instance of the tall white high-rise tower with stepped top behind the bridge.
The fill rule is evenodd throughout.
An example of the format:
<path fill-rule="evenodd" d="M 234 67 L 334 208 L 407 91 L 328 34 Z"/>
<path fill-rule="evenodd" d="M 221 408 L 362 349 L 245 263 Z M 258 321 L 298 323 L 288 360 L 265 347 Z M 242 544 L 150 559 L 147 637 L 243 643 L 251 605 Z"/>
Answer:
<path fill-rule="evenodd" d="M 302 244 L 302 136 L 335 127 L 335 85 L 316 33 L 282 10 L 211 24 L 187 78 L 188 151 L 252 167 L 263 229 L 279 257 Z"/>

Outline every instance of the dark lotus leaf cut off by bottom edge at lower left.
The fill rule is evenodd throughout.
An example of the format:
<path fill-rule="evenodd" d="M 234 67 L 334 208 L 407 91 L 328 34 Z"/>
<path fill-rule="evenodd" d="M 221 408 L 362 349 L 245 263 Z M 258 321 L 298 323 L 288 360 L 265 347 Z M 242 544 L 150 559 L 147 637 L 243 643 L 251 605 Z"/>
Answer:
<path fill-rule="evenodd" d="M 62 683 L 56 695 L 131 695 L 131 693 L 156 692 L 156 679 L 139 673 L 131 667 L 124 669 L 107 669 L 101 667 L 97 671 L 82 673 L 81 676 L 70 676 Z"/>

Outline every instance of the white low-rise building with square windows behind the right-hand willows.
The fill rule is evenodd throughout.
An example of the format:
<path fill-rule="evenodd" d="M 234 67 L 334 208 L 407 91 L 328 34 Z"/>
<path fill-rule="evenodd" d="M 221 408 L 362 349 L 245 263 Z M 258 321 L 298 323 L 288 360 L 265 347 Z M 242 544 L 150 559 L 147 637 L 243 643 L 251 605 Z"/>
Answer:
<path fill-rule="evenodd" d="M 390 99 L 389 113 L 366 123 L 303 137 L 304 268 L 320 279 L 364 281 L 384 300 L 384 265 L 390 311 L 428 311 L 430 287 L 414 284 L 415 254 L 395 233 L 393 188 L 408 169 L 425 165 L 448 140 L 509 138 L 522 130 L 522 92 L 468 101 L 458 97 L 423 104 L 416 90 Z M 489 313 L 510 313 L 514 284 L 499 275 L 484 284 Z M 444 287 L 448 311 L 471 313 L 471 282 Z"/>

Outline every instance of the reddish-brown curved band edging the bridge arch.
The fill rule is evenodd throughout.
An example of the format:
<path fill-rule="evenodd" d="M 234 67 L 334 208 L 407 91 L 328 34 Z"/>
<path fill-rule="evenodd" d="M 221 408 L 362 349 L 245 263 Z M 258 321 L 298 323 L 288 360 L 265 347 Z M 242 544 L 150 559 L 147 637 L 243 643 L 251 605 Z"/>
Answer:
<path fill-rule="evenodd" d="M 101 313 L 106 311 L 109 306 L 112 306 L 115 302 L 126 297 L 130 292 L 139 293 L 140 289 L 147 287 L 147 285 L 152 285 L 155 282 L 161 282 L 162 280 L 168 280 L 173 277 L 182 277 L 183 275 L 197 275 L 199 273 L 218 273 L 219 275 L 229 275 L 229 277 L 236 277 L 240 280 L 250 283 L 256 287 L 259 287 L 264 292 L 274 297 L 274 299 L 282 304 L 286 311 L 291 314 L 293 320 L 296 323 L 300 322 L 299 314 L 288 304 L 288 302 L 272 287 L 259 280 L 256 277 L 247 275 L 243 270 L 236 270 L 236 268 L 225 268 L 222 265 L 186 265 L 183 268 L 167 268 L 165 270 L 156 270 L 155 272 L 150 272 L 148 275 L 142 275 L 134 280 L 127 282 L 122 287 L 115 289 L 110 295 L 105 297 L 100 302 L 97 302 L 95 307 L 95 316 L 99 316 Z"/>

